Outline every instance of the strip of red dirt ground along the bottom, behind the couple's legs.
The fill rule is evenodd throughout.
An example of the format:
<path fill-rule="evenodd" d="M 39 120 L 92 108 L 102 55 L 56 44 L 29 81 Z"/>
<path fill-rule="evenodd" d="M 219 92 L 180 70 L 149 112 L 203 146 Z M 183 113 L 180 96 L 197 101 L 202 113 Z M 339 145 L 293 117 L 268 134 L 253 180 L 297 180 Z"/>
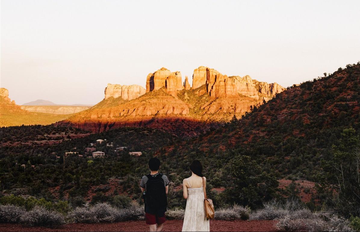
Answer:
<path fill-rule="evenodd" d="M 210 231 L 276 231 L 273 220 L 211 220 Z M 163 231 L 181 231 L 183 220 L 167 220 Z M 0 224 L 0 231 L 149 231 L 145 221 L 117 223 L 67 224 L 59 228 L 23 227 L 19 224 Z"/>

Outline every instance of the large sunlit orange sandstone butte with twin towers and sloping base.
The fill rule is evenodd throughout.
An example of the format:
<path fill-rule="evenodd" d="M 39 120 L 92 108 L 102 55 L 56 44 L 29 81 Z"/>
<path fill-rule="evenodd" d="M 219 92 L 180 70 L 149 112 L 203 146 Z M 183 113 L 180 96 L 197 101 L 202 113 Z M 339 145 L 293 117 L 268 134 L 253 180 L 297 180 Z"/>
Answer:
<path fill-rule="evenodd" d="M 277 83 L 259 82 L 250 76 L 228 77 L 204 66 L 194 70 L 191 87 L 187 77 L 182 81 L 179 71 L 161 68 L 148 74 L 145 91 L 136 85 L 108 84 L 103 101 L 61 123 L 91 131 L 121 126 L 188 127 L 196 134 L 190 127 L 241 117 L 251 106 L 282 91 Z"/>

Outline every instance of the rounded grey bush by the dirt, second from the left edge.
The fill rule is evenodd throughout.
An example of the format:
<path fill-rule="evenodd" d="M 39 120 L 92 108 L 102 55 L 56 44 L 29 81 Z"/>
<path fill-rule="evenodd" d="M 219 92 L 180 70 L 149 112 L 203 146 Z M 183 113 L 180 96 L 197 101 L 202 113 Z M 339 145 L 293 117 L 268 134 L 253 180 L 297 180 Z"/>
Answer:
<path fill-rule="evenodd" d="M 64 216 L 56 211 L 50 211 L 41 206 L 35 206 L 32 210 L 25 212 L 20 223 L 26 226 L 54 227 L 65 223 Z"/>

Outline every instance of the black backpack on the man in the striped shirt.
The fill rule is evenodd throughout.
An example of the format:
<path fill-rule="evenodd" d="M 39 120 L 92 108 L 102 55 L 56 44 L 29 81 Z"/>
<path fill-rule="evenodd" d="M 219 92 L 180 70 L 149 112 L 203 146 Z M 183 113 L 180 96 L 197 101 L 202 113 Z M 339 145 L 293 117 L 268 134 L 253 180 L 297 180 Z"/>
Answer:
<path fill-rule="evenodd" d="M 166 211 L 167 197 L 162 174 L 159 173 L 156 177 L 152 177 L 151 174 L 148 174 L 147 177 L 145 204 L 151 210 Z"/>

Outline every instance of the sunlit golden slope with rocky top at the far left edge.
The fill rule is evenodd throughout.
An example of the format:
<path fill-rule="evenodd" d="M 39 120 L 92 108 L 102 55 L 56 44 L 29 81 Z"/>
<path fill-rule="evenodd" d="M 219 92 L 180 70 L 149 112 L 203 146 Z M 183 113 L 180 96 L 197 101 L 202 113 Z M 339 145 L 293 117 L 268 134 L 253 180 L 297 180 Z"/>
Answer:
<path fill-rule="evenodd" d="M 48 125 L 68 118 L 70 115 L 33 113 L 16 105 L 9 98 L 9 91 L 0 88 L 0 127 L 42 124 Z"/>

